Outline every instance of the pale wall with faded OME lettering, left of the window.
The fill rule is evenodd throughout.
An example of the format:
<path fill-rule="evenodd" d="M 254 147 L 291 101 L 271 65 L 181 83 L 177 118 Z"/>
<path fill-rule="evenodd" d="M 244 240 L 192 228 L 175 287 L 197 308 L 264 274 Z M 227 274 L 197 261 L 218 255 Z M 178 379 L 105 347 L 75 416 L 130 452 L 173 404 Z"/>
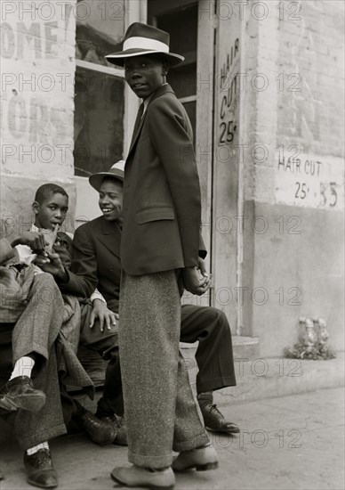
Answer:
<path fill-rule="evenodd" d="M 1 2 L 2 220 L 31 220 L 40 184 L 62 184 L 72 226 L 76 1 Z"/>

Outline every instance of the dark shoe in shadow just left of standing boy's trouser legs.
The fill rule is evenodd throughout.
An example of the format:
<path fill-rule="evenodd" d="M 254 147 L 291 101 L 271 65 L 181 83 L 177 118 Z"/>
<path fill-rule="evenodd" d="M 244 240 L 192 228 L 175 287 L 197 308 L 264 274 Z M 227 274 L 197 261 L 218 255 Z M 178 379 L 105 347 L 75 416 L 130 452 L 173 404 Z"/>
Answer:
<path fill-rule="evenodd" d="M 83 409 L 72 415 L 72 419 L 84 429 L 90 439 L 100 445 L 111 444 L 116 438 L 117 431 L 113 423 L 100 421 L 92 412 Z"/>

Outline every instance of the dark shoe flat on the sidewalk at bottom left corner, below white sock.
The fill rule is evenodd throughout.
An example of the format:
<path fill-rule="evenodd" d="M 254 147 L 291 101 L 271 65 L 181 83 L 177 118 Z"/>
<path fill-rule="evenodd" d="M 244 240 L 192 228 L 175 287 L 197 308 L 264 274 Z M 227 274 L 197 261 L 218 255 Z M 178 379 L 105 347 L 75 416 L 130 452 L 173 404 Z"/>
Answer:
<path fill-rule="evenodd" d="M 55 488 L 59 485 L 58 475 L 52 466 L 52 456 L 49 449 L 38 449 L 36 453 L 30 456 L 25 452 L 24 465 L 30 485 L 40 488 Z"/>

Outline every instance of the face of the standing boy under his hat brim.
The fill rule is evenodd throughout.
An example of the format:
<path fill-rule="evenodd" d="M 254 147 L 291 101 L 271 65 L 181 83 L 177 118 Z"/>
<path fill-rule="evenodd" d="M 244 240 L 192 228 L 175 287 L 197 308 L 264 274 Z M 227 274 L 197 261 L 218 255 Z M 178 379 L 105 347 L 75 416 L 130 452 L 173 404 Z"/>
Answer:
<path fill-rule="evenodd" d="M 155 56 L 133 56 L 124 61 L 124 78 L 134 94 L 146 99 L 165 83 L 169 64 Z"/>

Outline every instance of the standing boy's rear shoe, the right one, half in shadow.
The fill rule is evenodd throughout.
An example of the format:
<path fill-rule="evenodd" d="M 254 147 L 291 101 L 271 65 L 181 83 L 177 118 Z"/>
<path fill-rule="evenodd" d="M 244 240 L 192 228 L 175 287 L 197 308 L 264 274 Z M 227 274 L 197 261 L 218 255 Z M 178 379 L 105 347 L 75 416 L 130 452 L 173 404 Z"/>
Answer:
<path fill-rule="evenodd" d="M 197 471 L 215 470 L 218 468 L 218 456 L 212 445 L 197 447 L 189 451 L 182 451 L 173 460 L 174 471 L 191 470 Z"/>

